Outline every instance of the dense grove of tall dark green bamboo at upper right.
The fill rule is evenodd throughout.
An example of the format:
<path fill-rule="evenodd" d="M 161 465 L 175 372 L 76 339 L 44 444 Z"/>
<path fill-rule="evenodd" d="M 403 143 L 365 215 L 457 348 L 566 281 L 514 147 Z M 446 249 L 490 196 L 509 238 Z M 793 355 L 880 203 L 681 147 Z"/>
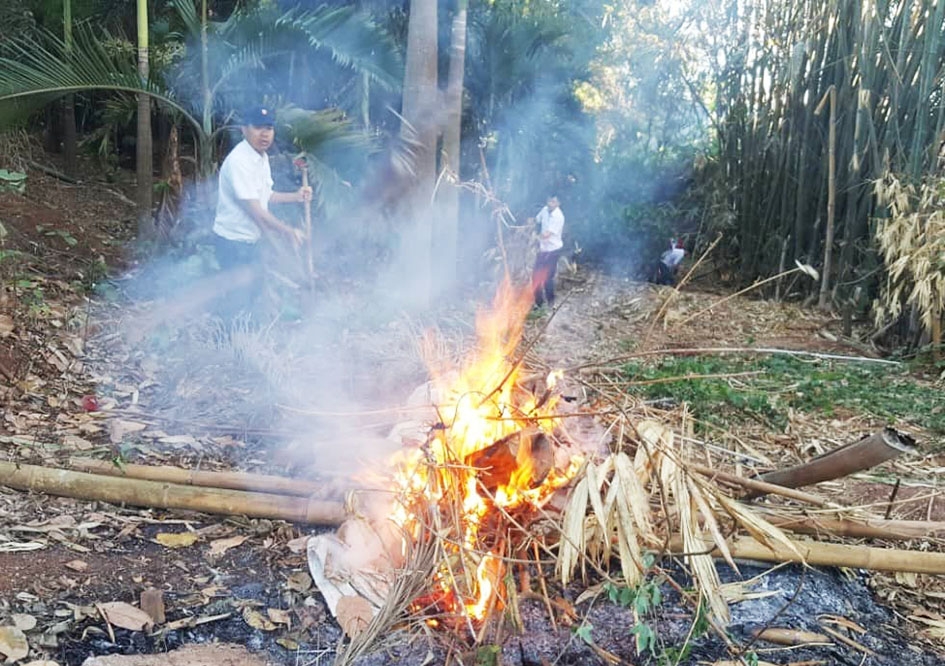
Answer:
<path fill-rule="evenodd" d="M 714 82 L 718 160 L 701 174 L 711 192 L 706 242 L 724 233 L 746 280 L 795 259 L 821 266 L 822 304 L 868 309 L 881 261 L 901 254 L 888 241 L 902 234 L 881 233 L 894 220 L 877 184 L 919 185 L 942 172 L 945 3 L 760 0 L 716 11 L 728 39 Z M 942 256 L 931 273 L 941 274 Z M 924 316 L 933 330 L 943 298 L 929 292 L 926 310 L 937 309 L 916 312 L 912 328 Z"/>

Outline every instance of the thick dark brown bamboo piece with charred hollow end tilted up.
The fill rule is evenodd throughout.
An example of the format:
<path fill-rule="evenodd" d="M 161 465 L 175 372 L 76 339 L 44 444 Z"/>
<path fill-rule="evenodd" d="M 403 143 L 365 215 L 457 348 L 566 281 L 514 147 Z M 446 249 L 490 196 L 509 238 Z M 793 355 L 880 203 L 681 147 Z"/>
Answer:
<path fill-rule="evenodd" d="M 872 435 L 817 456 L 802 465 L 762 474 L 758 480 L 785 488 L 811 486 L 862 472 L 897 458 L 903 453 L 914 453 L 915 450 L 914 439 L 893 428 L 883 428 Z M 752 490 L 745 495 L 744 499 L 751 499 L 762 494 L 764 493 Z"/>

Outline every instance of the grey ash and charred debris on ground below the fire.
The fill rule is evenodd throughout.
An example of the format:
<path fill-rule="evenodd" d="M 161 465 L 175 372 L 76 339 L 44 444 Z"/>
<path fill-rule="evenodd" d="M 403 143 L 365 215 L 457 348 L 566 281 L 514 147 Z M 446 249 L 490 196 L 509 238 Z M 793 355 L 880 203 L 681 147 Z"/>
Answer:
<path fill-rule="evenodd" d="M 745 581 L 760 576 L 752 586 L 752 591 L 772 594 L 733 604 L 728 632 L 736 644 L 747 646 L 746 653 L 754 652 L 762 661 L 850 666 L 936 666 L 943 663 L 941 654 L 916 644 L 905 633 L 896 615 L 877 603 L 866 582 L 860 578 L 848 578 L 836 569 L 820 570 L 798 565 L 783 566 L 773 571 L 753 564 L 739 566 L 740 576 L 720 565 L 723 582 Z M 769 573 L 761 576 L 766 571 Z M 575 587 L 565 596 L 573 601 L 582 591 Z M 468 663 L 501 663 L 503 666 L 607 664 L 600 650 L 595 650 L 595 647 L 630 664 L 660 664 L 667 663 L 665 660 L 669 659 L 668 663 L 692 666 L 734 658 L 724 642 L 712 632 L 691 637 L 688 649 L 680 655 L 690 635 L 692 612 L 679 603 L 679 596 L 669 586 L 664 585 L 663 591 L 663 603 L 645 618 L 645 623 L 657 637 L 656 647 L 643 655 L 636 653 L 632 610 L 610 602 L 603 594 L 596 601 L 579 604 L 576 610 L 583 620 L 578 620 L 570 627 L 563 626 L 560 621 L 552 626 L 547 606 L 542 601 L 523 600 L 520 611 L 524 632 L 509 636 L 501 646 L 485 648 L 485 652 L 480 650 L 478 654 L 471 652 Z M 838 640 L 829 646 L 790 648 L 760 640 L 752 642 L 754 632 L 766 627 L 823 634 L 821 620 L 824 616 L 844 618 L 865 628 L 866 633 L 860 634 L 850 633 L 842 626 L 828 625 L 874 654 Z M 584 629 L 579 630 L 581 627 Z M 586 639 L 591 640 L 593 646 Z M 453 654 L 455 658 L 455 651 Z M 443 663 L 445 657 L 446 653 L 440 652 L 437 641 L 421 638 L 398 641 L 397 645 L 362 657 L 355 663 L 357 666 L 381 666 L 396 661 L 399 666 L 420 666 Z M 482 661 L 484 657 L 487 661 Z"/>

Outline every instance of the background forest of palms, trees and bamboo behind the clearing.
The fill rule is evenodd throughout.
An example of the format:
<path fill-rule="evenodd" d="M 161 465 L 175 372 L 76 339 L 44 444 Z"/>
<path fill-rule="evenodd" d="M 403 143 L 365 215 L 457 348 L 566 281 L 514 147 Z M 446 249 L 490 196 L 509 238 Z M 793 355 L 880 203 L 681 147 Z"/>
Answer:
<path fill-rule="evenodd" d="M 583 263 L 642 277 L 670 237 L 721 238 L 709 279 L 809 264 L 770 294 L 913 348 L 941 346 L 943 89 L 932 0 L 0 6 L 2 127 L 72 175 L 134 167 L 142 240 L 206 232 L 233 111 L 262 98 L 339 270 L 409 244 L 447 294 L 556 193 Z"/>

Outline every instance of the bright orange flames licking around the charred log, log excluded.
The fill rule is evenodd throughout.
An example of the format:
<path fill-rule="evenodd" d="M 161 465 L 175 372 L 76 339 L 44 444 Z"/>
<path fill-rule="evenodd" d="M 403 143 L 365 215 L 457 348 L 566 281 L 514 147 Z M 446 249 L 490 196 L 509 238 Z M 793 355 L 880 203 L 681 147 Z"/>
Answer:
<path fill-rule="evenodd" d="M 483 619 L 502 596 L 504 546 L 497 546 L 497 542 L 504 544 L 505 540 L 494 534 L 486 538 L 484 527 L 495 525 L 512 510 L 537 505 L 567 483 L 580 465 L 580 461 L 571 461 L 564 472 L 551 465 L 550 471 L 538 474 L 543 478 L 536 485 L 536 461 L 529 443 L 534 439 L 525 437 L 515 453 L 514 468 L 494 489 L 482 482 L 484 470 L 468 462 L 470 456 L 517 433 L 550 436 L 554 431 L 554 419 L 548 417 L 554 415 L 558 404 L 553 389 L 560 373 L 551 373 L 539 390 L 522 390 L 517 381 L 520 365 L 513 361 L 531 303 L 529 290 L 515 290 L 504 283 L 492 307 L 477 314 L 475 353 L 458 372 L 432 363 L 432 347 L 427 345 L 443 423 L 425 447 L 404 451 L 396 464 L 395 479 L 407 499 L 395 507 L 392 519 L 405 534 L 416 536 L 419 531 L 418 502 L 426 507 L 458 507 L 451 514 L 459 513 L 458 533 L 451 537 L 450 547 L 458 556 L 456 561 L 465 562 L 468 556 L 478 565 L 474 577 L 444 565 L 437 572 L 437 586 L 442 590 L 437 605 L 475 620 Z M 457 580 L 466 582 L 465 589 L 458 589 L 463 586 Z"/>

